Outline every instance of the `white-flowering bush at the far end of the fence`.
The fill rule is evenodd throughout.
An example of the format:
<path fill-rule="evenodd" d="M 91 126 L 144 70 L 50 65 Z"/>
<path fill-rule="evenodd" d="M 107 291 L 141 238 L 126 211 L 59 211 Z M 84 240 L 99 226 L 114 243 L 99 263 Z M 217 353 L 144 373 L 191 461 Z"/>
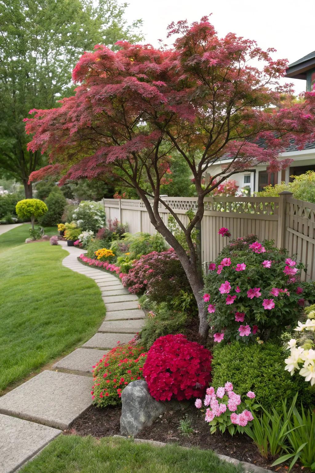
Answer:
<path fill-rule="evenodd" d="M 106 224 L 106 216 L 101 202 L 80 202 L 77 209 L 73 212 L 72 218 L 83 231 L 91 230 L 93 233 L 105 227 Z"/>

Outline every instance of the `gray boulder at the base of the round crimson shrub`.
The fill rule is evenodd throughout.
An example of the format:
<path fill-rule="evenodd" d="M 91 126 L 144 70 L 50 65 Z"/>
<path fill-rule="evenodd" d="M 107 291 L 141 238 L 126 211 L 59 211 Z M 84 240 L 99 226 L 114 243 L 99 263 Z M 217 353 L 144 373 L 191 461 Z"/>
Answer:
<path fill-rule="evenodd" d="M 143 379 L 132 381 L 121 393 L 120 431 L 122 435 L 135 436 L 140 430 L 167 411 L 185 409 L 189 403 L 179 401 L 155 401 Z"/>

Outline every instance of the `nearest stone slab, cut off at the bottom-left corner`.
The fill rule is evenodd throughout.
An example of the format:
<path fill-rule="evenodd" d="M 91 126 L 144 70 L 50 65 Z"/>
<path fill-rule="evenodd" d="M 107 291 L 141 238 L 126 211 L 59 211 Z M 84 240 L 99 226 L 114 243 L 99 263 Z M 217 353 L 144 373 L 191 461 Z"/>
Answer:
<path fill-rule="evenodd" d="M 61 430 L 0 414 L 0 472 L 11 473 L 32 458 Z"/>

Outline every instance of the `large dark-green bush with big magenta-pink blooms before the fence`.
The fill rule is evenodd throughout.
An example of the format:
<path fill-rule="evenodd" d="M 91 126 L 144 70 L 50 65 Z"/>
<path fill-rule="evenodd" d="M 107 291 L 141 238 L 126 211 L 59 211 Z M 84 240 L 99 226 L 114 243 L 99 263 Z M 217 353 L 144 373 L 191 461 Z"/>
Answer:
<path fill-rule="evenodd" d="M 315 299 L 314 286 L 301 281 L 304 265 L 254 237 L 233 240 L 209 265 L 204 301 L 215 342 L 276 336 Z"/>

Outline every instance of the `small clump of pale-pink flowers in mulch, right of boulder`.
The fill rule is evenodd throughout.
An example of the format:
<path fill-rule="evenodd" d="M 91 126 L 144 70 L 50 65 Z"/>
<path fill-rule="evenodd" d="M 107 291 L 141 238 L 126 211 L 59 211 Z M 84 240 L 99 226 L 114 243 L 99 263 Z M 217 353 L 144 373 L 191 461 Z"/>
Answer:
<path fill-rule="evenodd" d="M 244 427 L 253 420 L 250 410 L 258 407 L 254 399 L 255 393 L 248 391 L 242 402 L 241 396 L 233 391 L 232 383 L 227 382 L 216 391 L 213 386 L 207 388 L 204 402 L 196 399 L 195 406 L 203 412 L 205 410 L 204 420 L 208 422 L 212 434 L 219 427 L 222 434 L 228 429 L 233 435 L 235 432 L 243 433 Z"/>

